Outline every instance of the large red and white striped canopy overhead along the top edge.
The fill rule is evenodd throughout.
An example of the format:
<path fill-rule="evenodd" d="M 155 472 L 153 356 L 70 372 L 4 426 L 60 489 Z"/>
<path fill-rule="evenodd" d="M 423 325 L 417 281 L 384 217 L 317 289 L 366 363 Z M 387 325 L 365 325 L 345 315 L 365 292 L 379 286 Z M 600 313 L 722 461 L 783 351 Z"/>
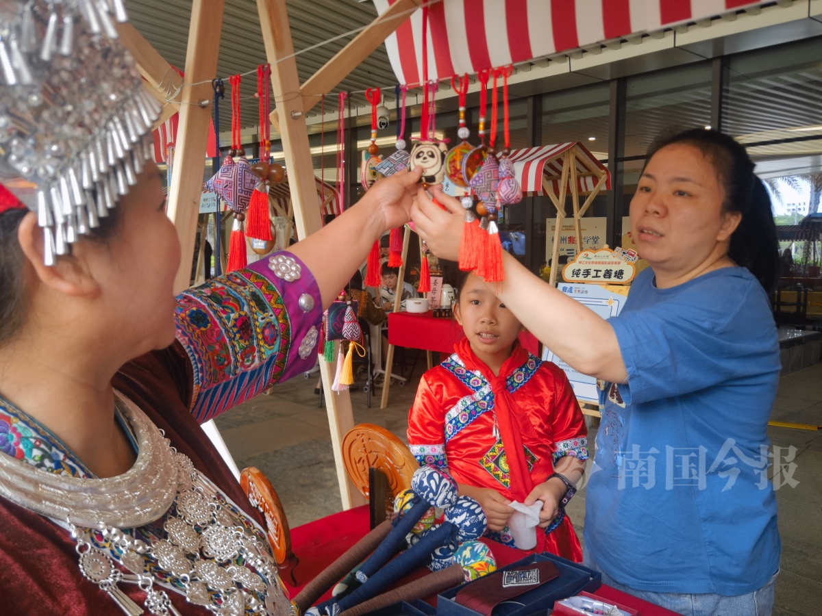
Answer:
<path fill-rule="evenodd" d="M 374 0 L 377 12 L 396 0 Z M 662 30 L 767 0 L 436 0 L 428 7 L 428 78 L 526 62 L 628 34 Z M 423 9 L 386 39 L 401 84 L 423 81 Z"/>

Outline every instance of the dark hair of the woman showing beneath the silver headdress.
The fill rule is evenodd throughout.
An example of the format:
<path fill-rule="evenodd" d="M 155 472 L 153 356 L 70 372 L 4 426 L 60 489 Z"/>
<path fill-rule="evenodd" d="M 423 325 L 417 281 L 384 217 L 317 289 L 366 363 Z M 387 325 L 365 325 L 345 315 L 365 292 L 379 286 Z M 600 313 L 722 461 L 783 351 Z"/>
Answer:
<path fill-rule="evenodd" d="M 17 227 L 28 209 L 8 209 L 0 214 L 0 347 L 15 337 L 25 324 L 25 289 L 23 263 L 25 257 L 17 241 Z M 85 238 L 106 241 L 118 229 L 119 208 L 99 219 L 99 227 L 91 229 Z"/>

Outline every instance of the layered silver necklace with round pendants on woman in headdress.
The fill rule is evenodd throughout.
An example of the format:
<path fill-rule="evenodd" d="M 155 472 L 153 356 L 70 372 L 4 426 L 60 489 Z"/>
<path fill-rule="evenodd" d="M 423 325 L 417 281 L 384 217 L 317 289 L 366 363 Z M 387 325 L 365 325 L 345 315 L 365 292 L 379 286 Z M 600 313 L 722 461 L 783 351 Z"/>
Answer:
<path fill-rule="evenodd" d="M 82 575 L 127 616 L 145 612 L 120 589 L 121 582 L 140 586 L 145 609 L 155 616 L 179 616 L 156 583 L 220 616 L 287 616 L 291 605 L 275 560 L 243 526 L 242 514 L 226 508 L 219 489 L 192 461 L 171 447 L 139 408 L 117 395 L 138 446 L 130 471 L 112 479 L 79 479 L 0 455 L 0 494 L 67 528 L 76 540 Z M 122 530 L 161 518 L 164 539 L 146 542 Z M 250 518 L 245 521 L 256 527 Z M 105 549 L 95 540 L 99 536 Z"/>

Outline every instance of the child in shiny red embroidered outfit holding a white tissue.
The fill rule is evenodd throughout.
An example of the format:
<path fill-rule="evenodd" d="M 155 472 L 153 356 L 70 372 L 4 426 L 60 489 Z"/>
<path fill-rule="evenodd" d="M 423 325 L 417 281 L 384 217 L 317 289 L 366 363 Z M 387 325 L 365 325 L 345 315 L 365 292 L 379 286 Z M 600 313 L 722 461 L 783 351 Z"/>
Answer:
<path fill-rule="evenodd" d="M 481 278 L 463 276 L 454 316 L 465 338 L 428 370 L 409 413 L 409 447 L 420 464 L 454 477 L 459 494 L 477 499 L 487 536 L 516 547 L 507 526 L 517 501 L 542 501 L 537 552 L 582 561 L 561 505 L 584 473 L 587 429 L 565 373 L 530 355 L 520 321 Z"/>

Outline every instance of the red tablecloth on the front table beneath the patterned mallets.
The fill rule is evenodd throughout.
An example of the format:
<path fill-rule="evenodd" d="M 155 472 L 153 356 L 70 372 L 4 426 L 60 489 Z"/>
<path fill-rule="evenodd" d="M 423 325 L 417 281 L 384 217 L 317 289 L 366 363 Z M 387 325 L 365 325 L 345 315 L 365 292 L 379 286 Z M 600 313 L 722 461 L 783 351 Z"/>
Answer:
<path fill-rule="evenodd" d="M 326 565 L 333 562 L 364 536 L 368 532 L 368 520 L 368 505 L 363 505 L 291 529 L 291 547 L 300 562 L 294 568 L 294 574 L 299 582 L 298 586 L 290 586 L 289 581 L 283 579 L 289 595 L 292 597 L 296 595 L 302 590 L 302 586 L 312 580 Z M 505 567 L 524 556 L 524 552 L 519 549 L 510 548 L 496 541 L 483 537 L 483 542 L 491 547 L 499 567 Z M 422 577 L 425 572 L 425 569 L 415 572 L 404 581 L 408 582 L 413 578 Z M 638 610 L 642 616 L 676 616 L 675 612 L 617 591 L 611 586 L 603 584 L 595 592 L 604 599 L 611 599 Z M 321 600 L 328 598 L 330 598 L 330 591 L 323 595 Z M 436 597 L 430 597 L 428 602 L 436 605 Z"/>

